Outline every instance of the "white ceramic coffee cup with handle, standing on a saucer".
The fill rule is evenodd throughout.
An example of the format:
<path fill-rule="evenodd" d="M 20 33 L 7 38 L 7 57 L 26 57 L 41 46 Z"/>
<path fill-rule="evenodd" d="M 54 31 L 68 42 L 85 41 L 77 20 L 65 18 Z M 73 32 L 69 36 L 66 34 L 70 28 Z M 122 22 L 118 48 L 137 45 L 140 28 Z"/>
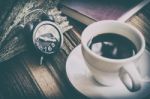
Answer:
<path fill-rule="evenodd" d="M 137 53 L 125 59 L 110 59 L 95 54 L 88 47 L 88 42 L 96 35 L 103 33 L 115 33 L 127 37 L 135 44 Z M 96 81 L 105 86 L 113 86 L 120 78 L 131 92 L 141 88 L 141 77 L 135 63 L 139 61 L 144 52 L 145 39 L 135 27 L 113 20 L 95 22 L 83 31 L 81 45 L 85 62 Z"/>

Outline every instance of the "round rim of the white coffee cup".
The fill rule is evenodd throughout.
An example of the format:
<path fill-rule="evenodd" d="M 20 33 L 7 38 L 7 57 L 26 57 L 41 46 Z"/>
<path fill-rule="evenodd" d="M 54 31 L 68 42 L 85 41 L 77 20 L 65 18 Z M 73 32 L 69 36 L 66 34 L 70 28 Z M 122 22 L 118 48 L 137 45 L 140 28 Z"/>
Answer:
<path fill-rule="evenodd" d="M 91 26 L 96 25 L 97 23 L 98 24 L 103 24 L 103 23 L 108 23 L 109 24 L 110 22 L 119 23 L 120 25 L 127 26 L 128 28 L 134 30 L 136 32 L 136 34 L 139 36 L 139 38 L 141 39 L 141 44 L 142 45 L 141 45 L 141 48 L 138 50 L 138 52 L 134 56 L 131 56 L 129 58 L 124 58 L 124 59 L 111 59 L 111 58 L 103 57 L 103 56 L 97 55 L 96 53 L 94 53 L 93 51 L 91 51 L 90 48 L 88 47 L 87 43 L 84 43 L 83 37 L 86 34 L 88 28 L 91 28 Z M 104 60 L 104 61 L 113 62 L 113 63 L 122 63 L 122 62 L 126 62 L 126 61 L 133 61 L 133 60 L 139 58 L 143 54 L 143 52 L 145 50 L 145 39 L 144 39 L 144 36 L 142 35 L 142 33 L 138 29 L 136 29 L 135 27 L 133 27 L 132 25 L 129 25 L 129 24 L 123 23 L 123 22 L 119 22 L 119 21 L 115 21 L 115 20 L 98 21 L 98 22 L 94 22 L 94 23 L 90 24 L 89 26 L 87 26 L 83 30 L 83 32 L 82 32 L 82 35 L 81 35 L 81 44 L 84 47 L 84 49 L 90 55 L 92 55 L 93 57 L 96 57 L 96 58 Z"/>

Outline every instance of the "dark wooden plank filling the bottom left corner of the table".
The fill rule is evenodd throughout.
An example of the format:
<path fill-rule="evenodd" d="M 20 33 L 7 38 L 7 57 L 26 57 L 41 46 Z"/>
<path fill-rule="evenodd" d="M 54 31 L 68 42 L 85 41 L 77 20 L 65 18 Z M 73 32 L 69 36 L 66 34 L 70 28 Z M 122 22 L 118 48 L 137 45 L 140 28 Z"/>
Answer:
<path fill-rule="evenodd" d="M 1 99 L 45 99 L 20 56 L 0 64 Z"/>

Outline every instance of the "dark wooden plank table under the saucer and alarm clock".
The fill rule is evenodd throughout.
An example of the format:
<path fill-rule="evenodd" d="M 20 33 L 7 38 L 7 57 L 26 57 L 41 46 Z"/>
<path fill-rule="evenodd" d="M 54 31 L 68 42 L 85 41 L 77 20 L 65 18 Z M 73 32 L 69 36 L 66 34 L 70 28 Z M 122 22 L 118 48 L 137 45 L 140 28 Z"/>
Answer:
<path fill-rule="evenodd" d="M 11 26 L 17 25 L 16 16 L 22 16 L 22 8 L 29 6 L 27 0 L 5 0 L 0 3 L 0 35 Z M 35 4 L 40 8 L 41 4 Z M 7 7 L 6 7 L 7 6 Z M 43 8 L 45 9 L 45 8 Z M 70 84 L 65 70 L 69 53 L 80 44 L 80 34 L 85 26 L 70 20 L 75 28 L 64 34 L 64 45 L 53 57 L 39 65 L 40 57 L 31 50 L 0 63 L 0 99 L 87 99 Z M 150 47 L 150 4 L 127 21 L 137 27 L 145 36 L 147 49 Z M 2 40 L 2 39 L 1 39 Z M 21 41 L 20 41 L 21 42 Z M 25 48 L 26 45 L 22 45 Z M 148 92 L 150 93 L 150 92 Z M 144 99 L 149 99 L 150 96 Z"/>

